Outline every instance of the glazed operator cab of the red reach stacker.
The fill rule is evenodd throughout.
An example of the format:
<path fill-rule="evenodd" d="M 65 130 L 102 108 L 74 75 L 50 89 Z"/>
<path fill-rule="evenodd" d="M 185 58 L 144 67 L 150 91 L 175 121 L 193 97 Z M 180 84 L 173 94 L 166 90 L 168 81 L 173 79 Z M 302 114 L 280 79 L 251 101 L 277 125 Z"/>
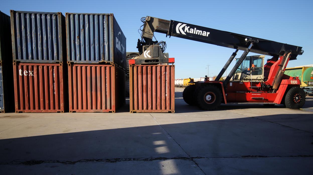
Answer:
<path fill-rule="evenodd" d="M 264 79 L 265 55 L 247 56 L 234 73 L 231 81 L 260 81 Z M 236 59 L 238 61 L 239 59 Z"/>

